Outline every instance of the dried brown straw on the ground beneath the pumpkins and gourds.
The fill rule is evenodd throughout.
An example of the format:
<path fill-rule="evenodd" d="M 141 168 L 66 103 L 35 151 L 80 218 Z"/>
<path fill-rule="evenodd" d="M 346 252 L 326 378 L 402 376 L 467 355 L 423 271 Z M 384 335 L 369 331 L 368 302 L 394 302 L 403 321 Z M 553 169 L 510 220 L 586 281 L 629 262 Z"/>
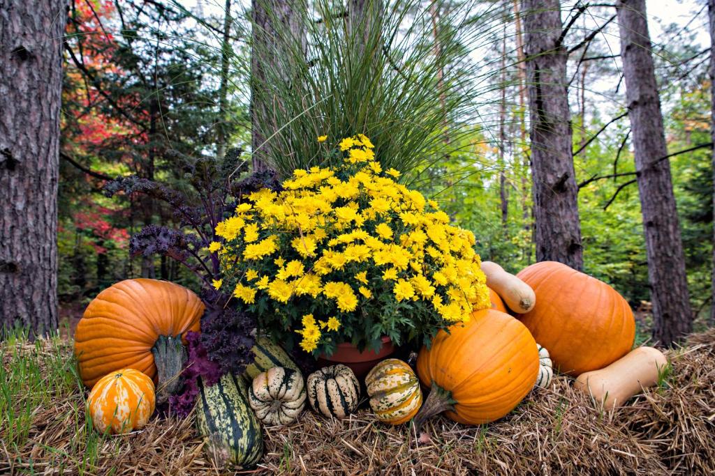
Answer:
<path fill-rule="evenodd" d="M 247 473 L 349 475 L 711 475 L 715 474 L 715 330 L 669 351 L 669 385 L 604 412 L 558 376 L 499 422 L 465 427 L 443 417 L 425 425 L 383 425 L 369 410 L 346 420 L 303 412 L 295 424 L 265 429 L 265 456 Z M 142 431 L 99 438 L 82 468 L 73 441 L 79 393 L 37 408 L 29 441 L 0 445 L 0 474 L 217 475 L 191 419 L 152 420 Z M 79 406 L 81 407 L 81 405 Z M 82 418 L 82 415 L 80 415 Z M 51 448 L 51 449 L 50 449 Z M 232 472 L 231 472 L 232 474 Z"/>

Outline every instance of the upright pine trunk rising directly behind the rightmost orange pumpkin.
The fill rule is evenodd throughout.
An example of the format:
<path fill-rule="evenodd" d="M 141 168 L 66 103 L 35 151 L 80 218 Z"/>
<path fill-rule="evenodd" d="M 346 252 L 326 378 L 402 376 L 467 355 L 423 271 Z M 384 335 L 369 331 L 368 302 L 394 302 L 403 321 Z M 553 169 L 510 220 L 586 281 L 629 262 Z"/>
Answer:
<path fill-rule="evenodd" d="M 558 0 L 523 0 L 536 260 L 583 267 Z"/>

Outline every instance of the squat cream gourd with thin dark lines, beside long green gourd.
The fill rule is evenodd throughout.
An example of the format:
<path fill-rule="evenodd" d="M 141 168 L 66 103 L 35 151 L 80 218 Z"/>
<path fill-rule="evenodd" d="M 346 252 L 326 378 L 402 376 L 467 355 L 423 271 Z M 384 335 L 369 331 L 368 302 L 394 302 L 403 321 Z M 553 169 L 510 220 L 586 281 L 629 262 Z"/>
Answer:
<path fill-rule="evenodd" d="M 264 425 L 289 425 L 305 407 L 305 383 L 299 370 L 274 367 L 248 388 L 248 402 Z"/>

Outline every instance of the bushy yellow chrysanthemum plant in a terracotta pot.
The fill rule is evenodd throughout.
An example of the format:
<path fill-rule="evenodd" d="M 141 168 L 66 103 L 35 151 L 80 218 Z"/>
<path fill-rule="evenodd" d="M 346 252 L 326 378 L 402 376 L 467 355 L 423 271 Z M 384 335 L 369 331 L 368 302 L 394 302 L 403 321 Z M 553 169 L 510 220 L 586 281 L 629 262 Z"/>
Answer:
<path fill-rule="evenodd" d="M 332 152 L 342 165 L 296 170 L 282 191 L 250 193 L 209 246 L 222 271 L 215 285 L 261 332 L 348 365 L 355 354 L 429 343 L 489 305 L 473 234 L 397 183 L 400 172 L 383 171 L 373 148 L 362 134 L 345 138 Z"/>

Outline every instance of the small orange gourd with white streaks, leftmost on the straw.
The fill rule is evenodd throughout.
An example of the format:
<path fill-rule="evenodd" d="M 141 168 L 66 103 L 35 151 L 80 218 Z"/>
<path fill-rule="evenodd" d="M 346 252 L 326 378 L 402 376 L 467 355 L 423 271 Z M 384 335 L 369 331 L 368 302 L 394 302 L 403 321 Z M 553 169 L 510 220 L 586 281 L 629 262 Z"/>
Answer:
<path fill-rule="evenodd" d="M 94 384 L 87 397 L 87 411 L 101 433 L 139 430 L 154 412 L 154 382 L 131 368 L 109 373 Z"/>

